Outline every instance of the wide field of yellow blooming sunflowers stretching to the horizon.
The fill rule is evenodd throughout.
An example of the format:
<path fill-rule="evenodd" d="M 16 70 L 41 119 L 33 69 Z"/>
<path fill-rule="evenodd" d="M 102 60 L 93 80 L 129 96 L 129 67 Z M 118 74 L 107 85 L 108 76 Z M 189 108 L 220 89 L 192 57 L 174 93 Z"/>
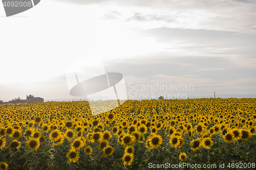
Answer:
<path fill-rule="evenodd" d="M 115 103 L 94 102 L 100 111 Z M 6 104 L 0 169 L 255 169 L 255 125 L 251 98 L 127 100 L 97 115 L 87 101 Z"/>

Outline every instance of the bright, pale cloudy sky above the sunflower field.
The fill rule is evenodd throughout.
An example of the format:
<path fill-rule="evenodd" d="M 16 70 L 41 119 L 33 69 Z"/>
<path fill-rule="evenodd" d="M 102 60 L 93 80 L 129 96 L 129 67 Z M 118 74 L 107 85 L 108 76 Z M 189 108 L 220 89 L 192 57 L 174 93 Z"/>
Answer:
<path fill-rule="evenodd" d="M 44 0 L 10 17 L 0 6 L 0 100 L 80 99 L 66 69 L 93 55 L 129 99 L 255 94 L 255 18 L 251 0 Z"/>

